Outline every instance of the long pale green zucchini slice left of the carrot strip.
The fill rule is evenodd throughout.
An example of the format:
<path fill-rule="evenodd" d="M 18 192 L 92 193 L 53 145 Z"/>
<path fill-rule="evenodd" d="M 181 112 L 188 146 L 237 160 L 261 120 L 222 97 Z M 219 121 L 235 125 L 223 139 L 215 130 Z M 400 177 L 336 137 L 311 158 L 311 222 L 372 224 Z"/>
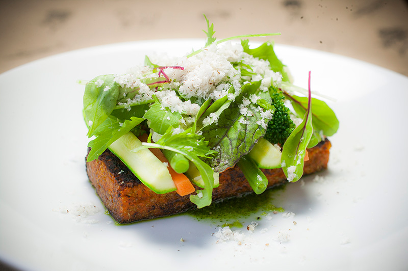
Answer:
<path fill-rule="evenodd" d="M 142 146 L 142 142 L 128 132 L 113 142 L 109 149 L 139 178 L 139 180 L 157 194 L 175 191 L 177 188 L 167 166 L 148 149 L 138 152 L 131 150 Z"/>

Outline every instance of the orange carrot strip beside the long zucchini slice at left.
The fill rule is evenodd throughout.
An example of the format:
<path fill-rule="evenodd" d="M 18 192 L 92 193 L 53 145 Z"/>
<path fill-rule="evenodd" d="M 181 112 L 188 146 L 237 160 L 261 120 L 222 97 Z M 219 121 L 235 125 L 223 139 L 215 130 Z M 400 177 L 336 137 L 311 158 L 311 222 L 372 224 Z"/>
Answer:
<path fill-rule="evenodd" d="M 142 134 L 139 137 L 139 140 L 142 142 L 147 142 L 147 134 Z M 170 167 L 169 161 L 164 157 L 163 152 L 160 149 L 149 148 L 149 150 L 157 157 L 160 161 L 167 163 L 167 169 L 169 170 L 170 176 L 173 179 L 175 187 L 177 188 L 176 192 L 180 196 L 186 196 L 195 192 L 193 184 L 190 182 L 189 178 L 183 173 L 177 173 Z"/>

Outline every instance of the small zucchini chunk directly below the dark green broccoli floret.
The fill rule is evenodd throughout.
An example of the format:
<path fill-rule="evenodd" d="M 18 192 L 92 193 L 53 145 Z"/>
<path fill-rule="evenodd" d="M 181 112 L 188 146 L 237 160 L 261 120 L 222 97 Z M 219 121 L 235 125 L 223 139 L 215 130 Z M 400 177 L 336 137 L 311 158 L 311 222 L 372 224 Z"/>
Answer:
<path fill-rule="evenodd" d="M 281 168 L 282 152 L 275 148 L 266 139 L 260 139 L 252 150 L 248 153 L 249 157 L 261 169 Z"/>

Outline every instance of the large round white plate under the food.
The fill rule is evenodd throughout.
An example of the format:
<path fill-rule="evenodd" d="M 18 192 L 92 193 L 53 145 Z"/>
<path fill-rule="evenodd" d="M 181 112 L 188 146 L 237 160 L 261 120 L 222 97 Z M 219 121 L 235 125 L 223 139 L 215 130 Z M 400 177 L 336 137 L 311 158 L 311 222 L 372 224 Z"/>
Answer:
<path fill-rule="evenodd" d="M 408 78 L 297 47 L 276 45 L 276 52 L 297 85 L 307 86 L 311 70 L 312 90 L 337 99 L 328 103 L 340 129 L 331 137 L 329 169 L 274 195 L 272 203 L 294 217 L 263 216 L 252 234 L 240 229 L 241 245 L 217 241 L 216 223 L 189 215 L 112 223 L 85 173 L 84 86 L 77 80 L 122 73 L 155 51 L 182 55 L 202 44 L 99 46 L 0 75 L 0 259 L 24 270 L 405 269 Z"/>

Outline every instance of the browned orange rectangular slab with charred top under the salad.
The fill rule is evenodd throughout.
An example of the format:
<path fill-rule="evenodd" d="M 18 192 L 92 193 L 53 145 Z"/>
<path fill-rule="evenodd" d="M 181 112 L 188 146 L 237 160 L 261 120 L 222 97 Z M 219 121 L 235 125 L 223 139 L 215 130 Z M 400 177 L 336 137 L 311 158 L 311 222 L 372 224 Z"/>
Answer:
<path fill-rule="evenodd" d="M 309 161 L 304 163 L 304 174 L 327 168 L 330 142 L 326 139 L 309 149 Z M 117 158 L 106 150 L 97 160 L 86 162 L 86 171 L 96 193 L 109 213 L 119 223 L 131 223 L 160 216 L 185 212 L 195 205 L 189 196 L 176 192 L 156 194 Z M 262 170 L 269 180 L 268 187 L 286 182 L 282 169 Z M 220 174 L 220 185 L 214 188 L 213 201 L 237 197 L 252 191 L 238 167 Z"/>

